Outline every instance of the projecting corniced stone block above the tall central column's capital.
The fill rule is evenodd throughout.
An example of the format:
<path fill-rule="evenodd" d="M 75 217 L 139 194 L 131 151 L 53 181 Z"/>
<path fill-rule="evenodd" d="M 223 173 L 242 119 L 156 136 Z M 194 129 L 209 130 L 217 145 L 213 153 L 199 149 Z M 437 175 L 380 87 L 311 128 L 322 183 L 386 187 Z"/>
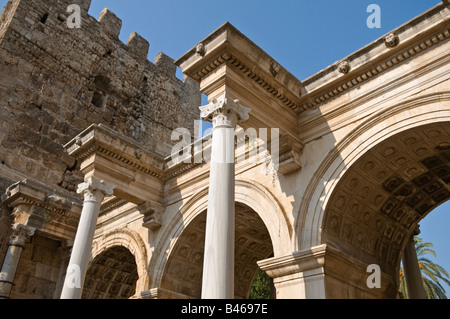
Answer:
<path fill-rule="evenodd" d="M 230 23 L 175 63 L 200 83 L 209 101 L 226 93 L 252 110 L 244 127 L 281 128 L 295 135 L 302 83 Z"/>

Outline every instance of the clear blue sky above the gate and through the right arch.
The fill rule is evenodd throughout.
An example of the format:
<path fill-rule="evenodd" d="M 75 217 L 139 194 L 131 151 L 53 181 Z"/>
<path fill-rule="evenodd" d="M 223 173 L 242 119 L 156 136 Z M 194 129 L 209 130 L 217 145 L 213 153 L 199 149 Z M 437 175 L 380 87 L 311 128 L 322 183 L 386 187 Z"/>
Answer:
<path fill-rule="evenodd" d="M 122 21 L 120 39 L 135 31 L 150 42 L 149 60 L 162 51 L 181 57 L 229 21 L 300 80 L 371 43 L 440 0 L 92 0 L 98 18 L 109 8 Z M 0 0 L 3 7 L 6 0 Z M 370 4 L 381 8 L 381 28 L 370 29 Z M 435 262 L 450 271 L 450 202 L 421 223 L 434 243 Z M 450 296 L 450 288 L 447 289 Z"/>

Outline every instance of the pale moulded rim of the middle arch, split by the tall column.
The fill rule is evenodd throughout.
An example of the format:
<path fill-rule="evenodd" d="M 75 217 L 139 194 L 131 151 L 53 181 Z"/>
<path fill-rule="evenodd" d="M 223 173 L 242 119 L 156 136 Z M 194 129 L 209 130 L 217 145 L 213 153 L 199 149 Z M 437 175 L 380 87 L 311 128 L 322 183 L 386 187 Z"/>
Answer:
<path fill-rule="evenodd" d="M 155 249 L 155 252 L 158 253 L 159 256 L 155 258 L 155 261 L 151 265 L 151 269 L 149 269 L 149 273 L 154 274 L 151 278 L 152 287 L 164 286 L 163 277 L 167 271 L 170 257 L 174 255 L 174 251 L 178 250 L 176 246 L 180 237 L 183 234 L 185 236 L 194 236 L 195 231 L 192 231 L 192 234 L 189 233 L 186 235 L 186 230 L 195 229 L 198 233 L 204 232 L 202 229 L 206 223 L 206 214 L 204 213 L 207 210 L 207 204 L 208 188 L 205 188 L 188 200 L 179 210 L 177 217 L 168 225 L 164 238 L 160 241 L 162 243 L 161 247 Z M 292 227 L 290 228 L 287 223 L 286 213 L 274 196 L 262 185 L 258 185 L 254 182 L 237 180 L 236 208 L 237 220 L 240 218 L 240 214 L 246 211 L 247 213 L 241 215 L 242 218 L 252 218 L 255 225 L 258 224 L 261 237 L 267 235 L 266 243 L 270 242 L 272 247 L 269 249 L 270 251 L 268 250 L 267 256 L 264 256 L 261 259 L 268 258 L 272 254 L 278 256 L 285 254 L 288 250 L 291 251 Z M 253 216 L 249 217 L 252 214 Z M 249 222 L 249 225 L 250 224 L 251 223 Z M 236 232 L 238 233 L 240 227 L 238 222 L 236 226 Z M 261 230 L 262 228 L 266 230 L 267 234 L 263 234 L 264 231 Z M 236 240 L 237 245 L 243 244 L 239 243 L 239 238 L 236 238 Z M 191 239 L 191 241 L 193 241 L 193 239 Z M 245 241 L 245 239 L 241 239 L 241 241 Z M 201 243 L 201 245 L 203 244 Z M 195 252 L 190 255 L 198 255 L 198 253 L 199 252 Z M 201 254 L 203 256 L 203 251 Z M 255 261 L 255 267 L 256 266 Z M 253 273 L 250 274 L 250 276 L 253 275 Z M 193 274 L 193 276 L 198 276 L 198 274 Z M 181 293 L 181 296 L 182 295 L 183 293 Z"/>

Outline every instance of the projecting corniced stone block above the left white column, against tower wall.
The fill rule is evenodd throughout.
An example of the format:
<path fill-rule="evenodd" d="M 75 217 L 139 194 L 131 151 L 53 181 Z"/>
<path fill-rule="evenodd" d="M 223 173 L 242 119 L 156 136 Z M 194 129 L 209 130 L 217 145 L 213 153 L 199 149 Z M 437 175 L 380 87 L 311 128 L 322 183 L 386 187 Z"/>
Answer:
<path fill-rule="evenodd" d="M 65 145 L 85 179 L 115 185 L 114 195 L 137 205 L 161 201 L 165 160 L 104 125 L 91 125 Z"/>

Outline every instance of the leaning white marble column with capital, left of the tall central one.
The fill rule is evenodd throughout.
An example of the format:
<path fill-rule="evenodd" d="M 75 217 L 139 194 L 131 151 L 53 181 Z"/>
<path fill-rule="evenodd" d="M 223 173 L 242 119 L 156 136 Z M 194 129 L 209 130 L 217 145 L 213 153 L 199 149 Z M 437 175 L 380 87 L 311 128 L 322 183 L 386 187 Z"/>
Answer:
<path fill-rule="evenodd" d="M 61 299 L 81 298 L 100 206 L 105 196 L 113 194 L 113 189 L 113 185 L 95 177 L 91 177 L 78 186 L 78 193 L 84 195 L 83 210 L 67 267 Z"/>

